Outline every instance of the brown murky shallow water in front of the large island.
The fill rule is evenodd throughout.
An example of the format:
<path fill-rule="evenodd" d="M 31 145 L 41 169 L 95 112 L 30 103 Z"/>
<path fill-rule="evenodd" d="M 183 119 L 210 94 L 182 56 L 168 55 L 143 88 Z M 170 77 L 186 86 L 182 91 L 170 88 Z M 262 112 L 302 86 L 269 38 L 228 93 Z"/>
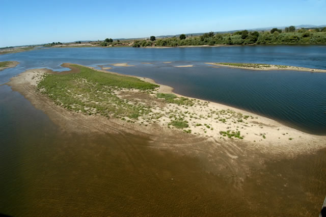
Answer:
<path fill-rule="evenodd" d="M 70 134 L 18 93 L 2 91 L 0 213 L 316 216 L 326 195 L 326 150 L 266 156 L 235 185 L 237 174 L 208 171 L 201 153 L 154 148 L 130 134 Z"/>

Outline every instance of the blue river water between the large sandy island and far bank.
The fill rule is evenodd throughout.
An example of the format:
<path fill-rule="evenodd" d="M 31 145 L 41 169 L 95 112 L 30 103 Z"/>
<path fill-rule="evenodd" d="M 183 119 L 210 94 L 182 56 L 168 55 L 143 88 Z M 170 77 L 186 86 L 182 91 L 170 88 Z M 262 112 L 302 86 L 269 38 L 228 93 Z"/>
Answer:
<path fill-rule="evenodd" d="M 65 70 L 60 67 L 64 62 L 94 67 L 128 62 L 135 66 L 113 67 L 111 71 L 150 77 L 183 95 L 236 106 L 303 131 L 326 134 L 326 73 L 251 71 L 205 64 L 243 62 L 326 69 L 326 46 L 46 48 L 0 56 L 0 61 L 6 60 L 20 64 L 0 72 L 0 84 L 30 68 Z M 174 67 L 188 64 L 194 67 Z"/>

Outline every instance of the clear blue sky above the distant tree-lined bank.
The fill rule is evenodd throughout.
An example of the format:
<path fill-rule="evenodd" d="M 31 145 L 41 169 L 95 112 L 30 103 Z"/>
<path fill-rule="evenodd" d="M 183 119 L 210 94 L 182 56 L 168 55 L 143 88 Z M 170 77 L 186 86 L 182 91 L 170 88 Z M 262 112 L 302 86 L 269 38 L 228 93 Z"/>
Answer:
<path fill-rule="evenodd" d="M 2 0 L 0 47 L 326 24 L 326 0 Z"/>

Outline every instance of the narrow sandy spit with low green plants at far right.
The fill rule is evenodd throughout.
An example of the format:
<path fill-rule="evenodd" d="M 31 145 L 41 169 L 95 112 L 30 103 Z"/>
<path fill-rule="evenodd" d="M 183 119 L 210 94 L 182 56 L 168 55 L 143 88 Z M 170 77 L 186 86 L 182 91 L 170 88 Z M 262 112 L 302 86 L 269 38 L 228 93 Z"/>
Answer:
<path fill-rule="evenodd" d="M 270 65 L 270 67 L 261 67 L 261 68 L 253 68 L 253 67 L 242 67 L 242 66 L 228 66 L 218 63 L 205 63 L 213 66 L 224 66 L 229 68 L 239 68 L 239 69 L 249 69 L 249 70 L 258 70 L 258 71 L 269 71 L 269 70 L 290 70 L 290 71 L 309 71 L 309 72 L 326 72 L 326 69 L 312 69 L 312 68 L 304 68 L 297 66 L 286 66 L 286 68 L 279 68 L 276 65 Z"/>

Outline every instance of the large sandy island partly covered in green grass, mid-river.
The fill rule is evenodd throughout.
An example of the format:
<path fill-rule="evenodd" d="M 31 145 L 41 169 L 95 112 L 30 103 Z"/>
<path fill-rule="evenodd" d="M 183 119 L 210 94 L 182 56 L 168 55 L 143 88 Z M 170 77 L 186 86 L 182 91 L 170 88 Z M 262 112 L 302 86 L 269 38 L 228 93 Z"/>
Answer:
<path fill-rule="evenodd" d="M 11 78 L 13 90 L 68 131 L 127 131 L 169 140 L 202 138 L 253 144 L 270 153 L 302 153 L 323 147 L 311 135 L 234 107 L 172 92 L 153 80 L 63 64 L 71 70 L 31 69 Z M 311 144 L 307 147 L 305 144 Z"/>

